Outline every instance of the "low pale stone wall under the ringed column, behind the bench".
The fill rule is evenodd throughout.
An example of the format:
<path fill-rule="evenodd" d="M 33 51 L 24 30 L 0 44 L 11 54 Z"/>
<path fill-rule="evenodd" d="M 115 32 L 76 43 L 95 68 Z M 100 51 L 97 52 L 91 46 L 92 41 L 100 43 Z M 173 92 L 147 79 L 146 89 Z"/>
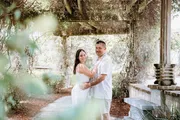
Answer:
<path fill-rule="evenodd" d="M 176 88 L 180 87 L 177 86 Z M 163 106 L 161 101 L 163 99 L 165 107 L 167 106 L 170 111 L 180 110 L 180 91 L 178 90 L 165 90 L 162 92 L 161 90 L 150 89 L 142 84 L 130 84 L 129 93 L 130 98 L 140 98 L 161 106 Z M 164 94 L 163 98 L 161 97 L 162 94 Z"/>

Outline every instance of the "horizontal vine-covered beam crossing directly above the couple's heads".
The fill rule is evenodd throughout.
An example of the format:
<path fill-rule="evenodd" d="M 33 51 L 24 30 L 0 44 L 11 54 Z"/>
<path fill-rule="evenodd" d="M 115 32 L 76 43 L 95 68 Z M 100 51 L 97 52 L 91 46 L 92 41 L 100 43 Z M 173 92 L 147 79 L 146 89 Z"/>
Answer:
<path fill-rule="evenodd" d="M 54 35 L 92 35 L 92 34 L 127 34 L 129 33 L 129 23 L 127 21 L 108 22 L 61 22 Z"/>

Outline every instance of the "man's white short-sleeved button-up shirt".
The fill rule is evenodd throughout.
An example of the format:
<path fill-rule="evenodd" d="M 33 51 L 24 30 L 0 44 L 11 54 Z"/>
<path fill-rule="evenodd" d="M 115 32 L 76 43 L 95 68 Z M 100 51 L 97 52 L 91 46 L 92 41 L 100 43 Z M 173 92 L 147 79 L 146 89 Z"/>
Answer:
<path fill-rule="evenodd" d="M 101 74 L 106 74 L 106 77 L 102 82 L 91 87 L 91 96 L 98 99 L 112 99 L 112 60 L 105 53 L 96 64 L 98 66 L 95 79 Z"/>

